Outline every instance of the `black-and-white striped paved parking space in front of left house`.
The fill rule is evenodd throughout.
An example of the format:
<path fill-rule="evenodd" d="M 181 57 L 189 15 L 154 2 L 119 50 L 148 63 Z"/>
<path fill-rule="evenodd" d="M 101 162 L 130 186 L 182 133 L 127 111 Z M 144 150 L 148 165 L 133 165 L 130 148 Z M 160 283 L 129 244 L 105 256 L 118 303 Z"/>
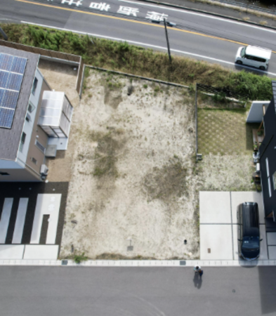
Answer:
<path fill-rule="evenodd" d="M 0 183 L 0 259 L 58 258 L 67 190 L 68 183 Z"/>

